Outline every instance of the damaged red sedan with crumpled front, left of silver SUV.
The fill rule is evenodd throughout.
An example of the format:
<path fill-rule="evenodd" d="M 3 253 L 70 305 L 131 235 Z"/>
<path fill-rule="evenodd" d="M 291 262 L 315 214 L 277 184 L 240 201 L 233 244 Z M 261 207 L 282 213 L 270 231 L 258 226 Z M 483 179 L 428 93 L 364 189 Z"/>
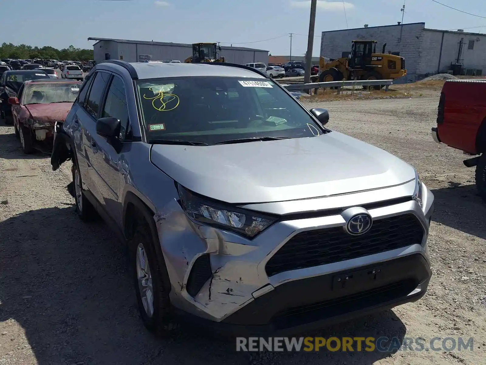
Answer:
<path fill-rule="evenodd" d="M 66 119 L 76 99 L 81 82 L 75 80 L 39 79 L 26 81 L 12 105 L 15 134 L 24 153 L 34 149 L 50 153 L 56 121 Z"/>

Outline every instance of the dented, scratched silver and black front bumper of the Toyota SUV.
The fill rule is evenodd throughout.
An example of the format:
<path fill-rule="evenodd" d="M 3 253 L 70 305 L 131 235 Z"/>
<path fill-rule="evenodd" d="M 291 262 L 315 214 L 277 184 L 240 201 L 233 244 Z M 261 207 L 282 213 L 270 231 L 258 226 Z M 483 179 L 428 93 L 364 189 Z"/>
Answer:
<path fill-rule="evenodd" d="M 417 300 L 431 277 L 426 241 L 434 197 L 427 192 L 423 209 L 413 200 L 368 209 L 376 230 L 382 229 L 375 235 L 387 234 L 379 227 L 388 220 L 393 229 L 403 222 L 418 235 L 382 249 L 373 248 L 378 236 L 371 244 L 363 238 L 362 245 L 346 249 L 347 238 L 340 236 L 346 220 L 339 213 L 280 220 L 250 240 L 189 219 L 174 199 L 154 217 L 171 302 L 191 322 L 197 318 L 222 331 L 263 333 L 310 329 Z M 330 262 L 322 259 L 329 252 L 319 251 L 331 244 L 322 242 L 328 233 L 337 235 L 332 244 L 342 246 Z M 290 245 L 295 251 L 287 252 L 285 261 L 282 248 Z M 373 270 L 380 274 L 373 278 Z M 355 284 L 339 287 L 337 277 L 353 275 Z"/>

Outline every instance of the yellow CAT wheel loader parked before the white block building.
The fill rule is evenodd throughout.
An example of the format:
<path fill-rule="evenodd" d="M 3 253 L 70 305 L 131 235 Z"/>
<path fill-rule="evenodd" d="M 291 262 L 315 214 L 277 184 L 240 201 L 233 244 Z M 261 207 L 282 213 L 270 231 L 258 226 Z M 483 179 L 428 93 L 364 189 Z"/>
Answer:
<path fill-rule="evenodd" d="M 395 80 L 405 76 L 405 59 L 393 53 L 376 53 L 376 40 L 353 40 L 351 52 L 343 52 L 341 58 L 319 59 L 319 82 L 345 80 Z M 348 54 L 348 55 L 347 55 Z M 316 82 L 317 77 L 314 77 Z M 367 89 L 367 87 L 364 87 Z M 380 89 L 380 86 L 371 86 Z"/>

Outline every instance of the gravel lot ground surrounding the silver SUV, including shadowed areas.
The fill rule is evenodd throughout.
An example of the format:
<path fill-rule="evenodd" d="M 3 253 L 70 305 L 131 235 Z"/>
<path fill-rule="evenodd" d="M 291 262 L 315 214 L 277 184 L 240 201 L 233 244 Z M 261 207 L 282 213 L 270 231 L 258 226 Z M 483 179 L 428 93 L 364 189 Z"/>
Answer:
<path fill-rule="evenodd" d="M 434 192 L 433 278 L 420 301 L 317 335 L 474 337 L 473 351 L 248 354 L 204 333 L 155 339 L 139 320 L 120 244 L 102 222 L 74 214 L 70 163 L 22 154 L 0 124 L 0 365 L 50 364 L 485 364 L 486 205 L 459 151 L 434 144 L 437 98 L 340 101 L 329 127 L 414 164 Z M 323 156 L 326 158 L 326 156 Z M 440 342 L 439 342 L 440 344 Z"/>

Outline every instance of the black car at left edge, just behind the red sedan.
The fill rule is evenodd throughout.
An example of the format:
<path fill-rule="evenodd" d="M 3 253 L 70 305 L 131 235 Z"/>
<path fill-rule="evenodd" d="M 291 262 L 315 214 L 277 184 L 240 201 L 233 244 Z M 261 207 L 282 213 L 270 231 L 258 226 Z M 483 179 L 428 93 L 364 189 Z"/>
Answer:
<path fill-rule="evenodd" d="M 25 81 L 49 78 L 47 73 L 39 70 L 5 71 L 0 78 L 0 119 L 5 119 L 5 124 L 13 123 L 12 107 L 8 98 L 16 97 Z"/>

